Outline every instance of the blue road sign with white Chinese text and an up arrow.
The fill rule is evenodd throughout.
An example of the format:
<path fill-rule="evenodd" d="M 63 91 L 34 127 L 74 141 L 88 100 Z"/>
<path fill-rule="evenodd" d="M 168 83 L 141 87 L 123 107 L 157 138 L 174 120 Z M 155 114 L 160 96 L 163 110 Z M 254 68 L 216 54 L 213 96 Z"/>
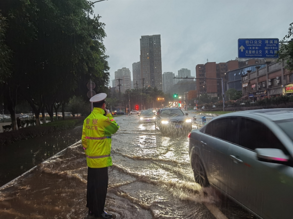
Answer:
<path fill-rule="evenodd" d="M 239 58 L 279 58 L 279 39 L 238 39 Z"/>

